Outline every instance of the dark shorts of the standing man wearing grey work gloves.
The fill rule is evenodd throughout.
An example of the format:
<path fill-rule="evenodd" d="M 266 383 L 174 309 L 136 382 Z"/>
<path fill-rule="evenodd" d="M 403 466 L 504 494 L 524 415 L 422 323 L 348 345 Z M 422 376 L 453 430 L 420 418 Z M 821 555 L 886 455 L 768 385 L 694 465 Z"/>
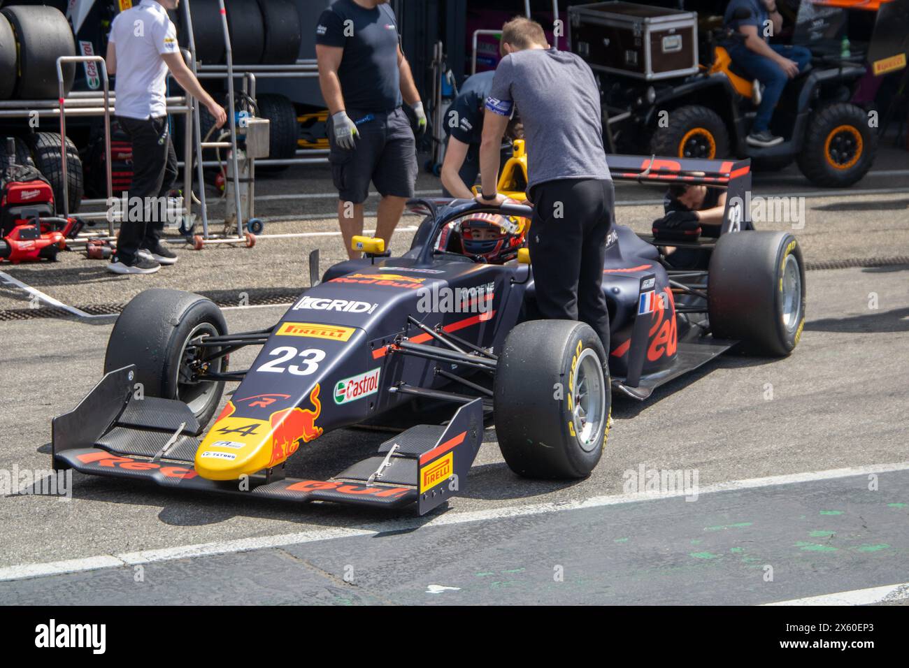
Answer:
<path fill-rule="evenodd" d="M 369 194 L 369 182 L 382 196 L 413 197 L 416 182 L 416 140 L 410 120 L 401 107 L 391 112 L 348 109 L 360 136 L 355 148 L 335 144 L 335 130 L 328 119 L 328 162 L 338 198 L 361 204 Z"/>

